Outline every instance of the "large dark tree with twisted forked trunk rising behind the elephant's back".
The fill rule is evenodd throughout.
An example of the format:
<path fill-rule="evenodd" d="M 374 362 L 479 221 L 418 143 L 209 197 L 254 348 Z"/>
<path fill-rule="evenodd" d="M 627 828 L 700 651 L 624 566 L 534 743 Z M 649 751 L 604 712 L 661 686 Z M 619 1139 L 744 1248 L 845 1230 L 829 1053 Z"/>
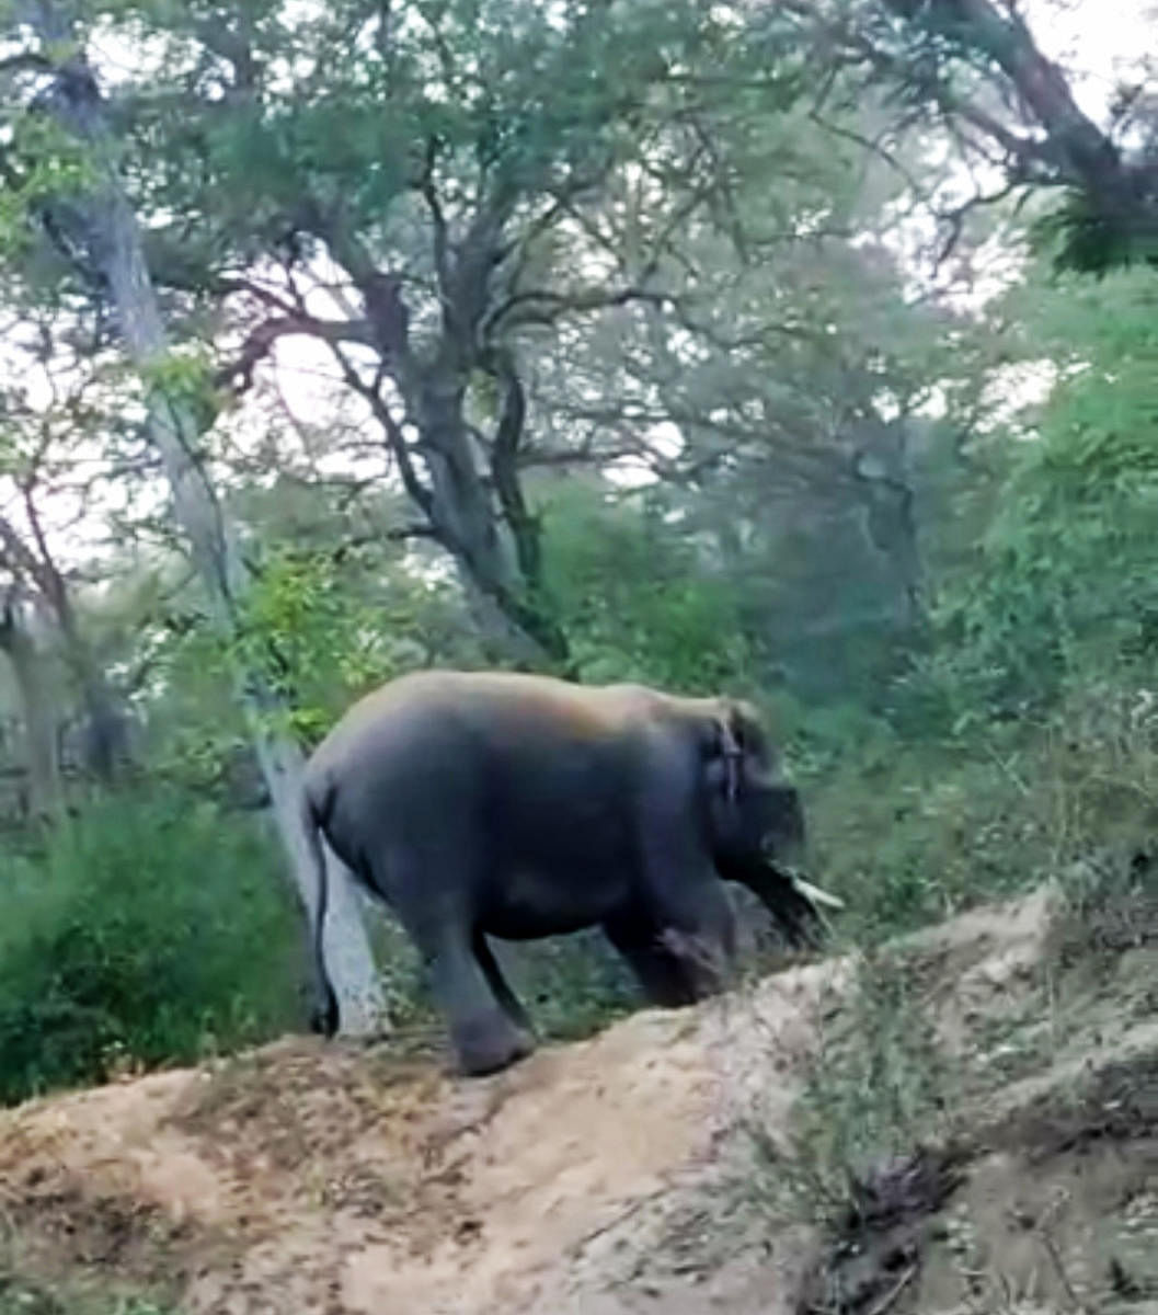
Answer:
<path fill-rule="evenodd" d="M 661 256 L 726 183 L 705 138 L 733 33 L 695 3 L 141 16 L 170 50 L 125 120 L 143 204 L 180 214 L 151 234 L 155 268 L 231 308 L 218 380 L 246 385 L 287 335 L 323 343 L 413 533 L 451 554 L 515 660 L 565 669 L 521 480 L 526 354 L 601 306 L 664 302 Z M 297 49 L 310 59 L 287 62 Z M 783 95 L 776 76 L 753 87 Z M 609 266 L 590 234 L 631 168 L 655 209 Z"/>

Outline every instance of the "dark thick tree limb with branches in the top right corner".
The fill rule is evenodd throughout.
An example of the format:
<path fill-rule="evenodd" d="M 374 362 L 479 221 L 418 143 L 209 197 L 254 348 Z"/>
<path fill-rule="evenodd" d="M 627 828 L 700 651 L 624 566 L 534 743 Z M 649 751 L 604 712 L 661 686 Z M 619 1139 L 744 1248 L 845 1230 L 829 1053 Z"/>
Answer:
<path fill-rule="evenodd" d="M 886 88 L 902 108 L 900 125 L 946 132 L 966 164 L 1004 176 L 996 192 L 978 191 L 942 209 L 946 242 L 979 204 L 1061 192 L 1038 237 L 1059 239 L 1062 267 L 1158 264 L 1153 67 L 1117 89 L 1101 126 L 1042 54 L 1019 0 L 789 0 L 777 22 L 786 16 L 832 70 L 822 79 L 823 97 Z"/>

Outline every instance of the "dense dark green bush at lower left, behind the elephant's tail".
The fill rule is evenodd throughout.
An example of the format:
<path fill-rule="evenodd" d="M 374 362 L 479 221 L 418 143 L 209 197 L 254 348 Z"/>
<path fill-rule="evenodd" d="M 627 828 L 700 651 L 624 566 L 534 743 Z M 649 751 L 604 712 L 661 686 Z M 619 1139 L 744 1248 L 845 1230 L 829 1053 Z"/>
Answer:
<path fill-rule="evenodd" d="M 0 1101 L 289 1026 L 304 938 L 276 859 L 210 806 L 121 796 L 0 869 Z"/>

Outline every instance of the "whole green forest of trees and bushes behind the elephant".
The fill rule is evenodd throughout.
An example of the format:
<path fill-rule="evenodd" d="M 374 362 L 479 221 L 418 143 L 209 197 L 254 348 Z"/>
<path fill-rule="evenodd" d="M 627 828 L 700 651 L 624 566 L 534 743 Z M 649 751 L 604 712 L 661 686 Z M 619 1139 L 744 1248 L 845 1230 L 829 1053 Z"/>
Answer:
<path fill-rule="evenodd" d="M 757 700 L 862 944 L 1149 871 L 1154 17 L 3 0 L 0 1097 L 304 1026 L 304 753 L 414 667 Z"/>

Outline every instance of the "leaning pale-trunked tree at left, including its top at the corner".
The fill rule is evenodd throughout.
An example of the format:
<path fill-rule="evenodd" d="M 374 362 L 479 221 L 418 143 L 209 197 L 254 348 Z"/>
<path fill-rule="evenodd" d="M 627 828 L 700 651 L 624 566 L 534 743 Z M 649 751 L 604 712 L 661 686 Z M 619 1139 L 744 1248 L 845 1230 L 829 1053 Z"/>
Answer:
<path fill-rule="evenodd" d="M 26 93 L 16 117 L 24 113 L 26 118 L 21 126 L 30 122 L 41 128 L 47 114 L 47 121 L 66 141 L 81 147 L 75 156 L 78 172 L 72 176 L 71 191 L 62 196 L 51 185 L 42 188 L 41 200 L 49 209 L 41 205 L 38 213 L 42 221 L 47 218 L 50 225 L 58 226 L 58 235 L 64 231 L 59 227 L 60 216 L 67 213 L 74 266 L 96 284 L 103 299 L 108 299 L 124 348 L 145 381 L 145 425 L 164 466 L 176 518 L 188 537 L 221 631 L 235 635 L 247 575 L 197 450 L 206 419 L 204 405 L 198 408 L 197 393 L 191 396 L 189 392 L 188 373 L 183 375 L 180 363 L 175 364 L 170 356 L 141 229 L 122 183 L 108 107 L 85 58 L 85 32 L 68 11 L 49 3 L 29 5 L 20 17 L 28 26 L 12 36 L 25 37 L 24 49 L 20 57 L 8 62 Z M 28 133 L 20 141 L 26 146 Z M 35 189 L 29 180 L 37 176 L 38 167 L 45 164 L 35 156 L 5 158 L 9 195 L 29 200 Z M 272 694 L 264 673 L 250 667 L 237 675 L 277 828 L 309 907 L 313 880 L 298 806 L 301 750 L 284 729 L 285 710 Z M 348 874 L 331 885 L 331 892 L 327 948 L 342 1022 L 347 1030 L 365 1030 L 375 1024 L 381 1002 L 373 957 Z"/>

